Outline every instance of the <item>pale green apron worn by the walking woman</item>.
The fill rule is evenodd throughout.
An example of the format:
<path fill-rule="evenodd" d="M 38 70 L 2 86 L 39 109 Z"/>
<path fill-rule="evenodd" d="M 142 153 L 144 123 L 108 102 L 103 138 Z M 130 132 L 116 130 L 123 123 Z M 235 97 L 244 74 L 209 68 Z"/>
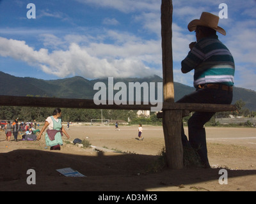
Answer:
<path fill-rule="evenodd" d="M 56 120 L 52 116 L 51 116 L 51 119 L 53 121 L 53 129 L 60 131 L 62 128 L 61 119 L 59 118 L 58 122 L 56 122 Z M 46 133 L 45 134 L 45 143 L 46 143 L 46 146 L 50 146 L 50 147 L 53 147 L 56 145 L 63 145 L 61 133 L 60 132 L 56 133 L 54 140 L 52 140 L 52 141 L 50 140 L 48 134 Z"/>

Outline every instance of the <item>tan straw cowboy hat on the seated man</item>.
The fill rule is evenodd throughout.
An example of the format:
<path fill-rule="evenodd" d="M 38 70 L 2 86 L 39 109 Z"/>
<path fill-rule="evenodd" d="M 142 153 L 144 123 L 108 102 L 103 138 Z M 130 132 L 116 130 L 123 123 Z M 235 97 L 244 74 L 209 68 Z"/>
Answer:
<path fill-rule="evenodd" d="M 188 24 L 188 30 L 190 32 L 195 31 L 197 25 L 202 25 L 202 26 L 206 26 L 206 27 L 211 27 L 215 31 L 217 31 L 225 36 L 226 31 L 222 27 L 218 26 L 219 20 L 220 20 L 220 18 L 218 16 L 213 15 L 211 13 L 203 12 L 200 17 L 200 20 L 195 19 L 195 20 L 192 20 Z"/>

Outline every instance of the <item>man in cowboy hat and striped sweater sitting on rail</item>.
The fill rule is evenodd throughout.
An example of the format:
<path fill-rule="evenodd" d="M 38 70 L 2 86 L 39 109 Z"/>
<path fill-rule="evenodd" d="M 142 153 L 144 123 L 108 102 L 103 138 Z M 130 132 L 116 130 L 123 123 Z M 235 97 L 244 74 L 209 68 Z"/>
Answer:
<path fill-rule="evenodd" d="M 182 73 L 195 69 L 195 92 L 177 103 L 231 104 L 233 98 L 235 63 L 228 48 L 218 40 L 216 31 L 226 35 L 218 26 L 219 17 L 203 12 L 200 20 L 189 23 L 189 31 L 195 31 L 196 42 L 189 45 L 191 51 L 182 61 Z M 182 145 L 197 150 L 205 168 L 211 168 L 207 156 L 204 125 L 214 115 L 212 112 L 195 112 L 188 120 L 189 141 L 182 126 Z"/>

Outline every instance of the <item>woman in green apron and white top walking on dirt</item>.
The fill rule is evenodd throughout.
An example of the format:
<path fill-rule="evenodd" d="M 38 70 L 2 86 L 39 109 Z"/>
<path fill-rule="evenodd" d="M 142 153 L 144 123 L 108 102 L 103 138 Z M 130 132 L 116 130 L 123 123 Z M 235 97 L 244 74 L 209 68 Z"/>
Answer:
<path fill-rule="evenodd" d="M 40 134 L 37 137 L 37 140 L 41 139 L 42 133 L 44 133 L 45 129 L 47 129 L 47 133 L 45 134 L 45 143 L 47 146 L 51 147 L 51 150 L 60 150 L 60 145 L 63 145 L 63 141 L 61 136 L 64 133 L 67 136 L 67 139 L 70 138 L 68 133 L 65 131 L 61 124 L 61 109 L 56 108 L 52 113 L 52 116 L 47 117 L 45 120 L 44 127 L 40 131 Z"/>

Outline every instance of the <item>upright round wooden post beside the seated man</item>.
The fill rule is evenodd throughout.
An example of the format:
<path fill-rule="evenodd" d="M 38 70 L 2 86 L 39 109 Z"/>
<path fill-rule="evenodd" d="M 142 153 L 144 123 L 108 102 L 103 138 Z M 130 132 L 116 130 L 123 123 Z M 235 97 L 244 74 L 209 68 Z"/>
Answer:
<path fill-rule="evenodd" d="M 163 95 L 164 102 L 174 103 L 173 58 L 172 58 L 172 0 L 162 0 L 161 34 L 163 50 Z M 182 110 L 164 110 L 163 130 L 166 160 L 171 169 L 183 168 L 181 142 Z"/>

